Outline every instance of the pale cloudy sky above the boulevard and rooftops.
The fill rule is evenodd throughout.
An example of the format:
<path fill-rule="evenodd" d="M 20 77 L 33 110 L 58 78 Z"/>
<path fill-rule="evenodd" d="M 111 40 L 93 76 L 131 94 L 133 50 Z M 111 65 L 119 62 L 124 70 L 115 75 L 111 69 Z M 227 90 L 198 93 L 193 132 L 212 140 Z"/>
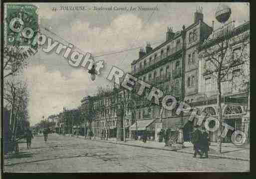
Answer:
<path fill-rule="evenodd" d="M 204 21 L 215 28 L 221 26 L 215 19 L 219 3 L 32 3 L 39 7 L 40 25 L 50 28 L 52 32 L 65 41 L 81 49 L 84 54 L 92 56 L 108 54 L 129 48 L 145 47 L 150 42 L 158 46 L 166 38 L 167 27 L 174 31 L 182 26 L 189 26 L 194 21 L 194 12 L 198 6 L 203 7 Z M 249 3 L 225 3 L 232 9 L 229 20 L 236 20 L 236 25 L 250 18 Z M 60 5 L 84 5 L 97 7 L 158 7 L 157 11 L 52 11 Z M 49 34 L 54 40 L 65 41 Z M 139 49 L 128 52 L 95 57 L 104 60 L 102 75 L 92 81 L 88 71 L 68 64 L 62 56 L 45 53 L 42 50 L 29 58 L 29 65 L 20 74 L 29 88 L 29 121 L 38 123 L 42 116 L 58 114 L 63 107 L 76 108 L 86 95 L 93 95 L 97 87 L 106 86 L 106 79 L 111 67 L 117 66 L 126 72 L 131 70 L 131 62 L 138 59 Z"/>

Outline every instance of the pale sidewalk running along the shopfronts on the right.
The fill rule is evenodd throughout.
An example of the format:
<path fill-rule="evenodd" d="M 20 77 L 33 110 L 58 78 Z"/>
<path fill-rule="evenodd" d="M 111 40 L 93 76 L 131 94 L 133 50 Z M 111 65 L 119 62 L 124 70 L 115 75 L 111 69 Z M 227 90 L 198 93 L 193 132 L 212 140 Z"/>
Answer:
<path fill-rule="evenodd" d="M 76 136 L 73 136 L 73 138 L 76 138 Z M 79 136 L 79 139 L 84 139 L 84 136 Z M 127 146 L 134 146 L 134 147 L 142 147 L 147 149 L 174 151 L 170 147 L 165 147 L 164 142 L 160 143 L 155 141 L 147 141 L 146 143 L 143 143 L 142 141 L 134 141 L 131 139 L 127 139 L 126 142 L 123 142 L 123 141 L 116 141 L 116 138 L 101 140 L 99 137 L 96 137 L 95 139 L 94 137 L 92 137 L 91 140 L 120 144 L 120 145 L 127 145 Z M 184 142 L 184 147 L 185 147 L 184 149 L 177 150 L 176 152 L 194 154 L 193 145 L 190 142 Z M 222 154 L 221 155 L 218 154 L 217 151 L 218 151 L 218 144 L 211 143 L 210 150 L 209 150 L 209 156 L 211 157 L 250 161 L 250 144 L 241 147 L 241 146 L 236 146 L 230 143 L 224 143 L 222 147 Z"/>

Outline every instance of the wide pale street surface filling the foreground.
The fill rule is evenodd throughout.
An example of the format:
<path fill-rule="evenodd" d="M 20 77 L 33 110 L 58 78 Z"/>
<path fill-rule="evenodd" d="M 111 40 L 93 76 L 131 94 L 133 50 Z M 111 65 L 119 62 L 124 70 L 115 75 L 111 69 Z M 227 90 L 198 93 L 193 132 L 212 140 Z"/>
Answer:
<path fill-rule="evenodd" d="M 30 149 L 4 156 L 4 172 L 248 172 L 249 161 L 145 149 L 98 140 L 49 135 L 34 137 Z"/>

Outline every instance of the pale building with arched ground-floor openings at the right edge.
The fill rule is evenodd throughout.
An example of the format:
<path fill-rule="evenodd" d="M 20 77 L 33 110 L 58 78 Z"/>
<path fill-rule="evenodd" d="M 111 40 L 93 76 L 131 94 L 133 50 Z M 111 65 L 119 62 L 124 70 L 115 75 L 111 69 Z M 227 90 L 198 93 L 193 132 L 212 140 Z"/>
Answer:
<path fill-rule="evenodd" d="M 224 42 L 225 46 L 222 50 L 218 46 Z M 217 48 L 216 48 L 217 46 Z M 209 49 L 214 55 L 206 53 Z M 226 50 L 227 49 L 227 50 Z M 218 51 L 217 51 L 218 50 Z M 209 50 L 210 51 L 210 50 Z M 224 123 L 234 128 L 234 131 L 243 131 L 250 136 L 250 118 L 244 118 L 250 105 L 248 100 L 250 85 L 250 22 L 245 22 L 235 27 L 234 22 L 230 22 L 225 26 L 216 29 L 210 38 L 201 45 L 199 53 L 201 60 L 199 61 L 199 81 L 198 96 L 194 98 L 191 105 L 205 112 L 207 116 L 217 117 L 217 79 L 216 74 L 209 71 L 211 62 L 209 58 L 221 58 L 221 52 L 226 52 L 223 62 L 221 74 L 227 72 L 224 80 L 221 82 L 221 106 Z M 235 58 L 235 59 L 234 59 Z M 238 63 L 232 64 L 238 58 Z M 231 65 L 232 64 L 232 65 Z M 207 68 L 208 67 L 208 68 Z M 227 68 L 230 67 L 229 70 Z M 188 97 L 189 98 L 189 97 Z M 231 142 L 232 130 L 228 131 L 224 142 Z M 220 131 L 216 133 L 210 132 L 212 141 L 217 141 Z M 248 140 L 249 141 L 249 140 Z"/>

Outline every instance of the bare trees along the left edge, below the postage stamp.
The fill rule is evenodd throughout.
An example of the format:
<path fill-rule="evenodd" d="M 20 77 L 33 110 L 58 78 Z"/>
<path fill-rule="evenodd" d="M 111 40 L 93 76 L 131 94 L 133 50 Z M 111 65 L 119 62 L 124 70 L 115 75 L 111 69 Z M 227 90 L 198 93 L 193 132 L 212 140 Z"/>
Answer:
<path fill-rule="evenodd" d="M 20 79 L 26 66 L 27 59 L 24 58 L 21 47 L 4 47 L 2 69 L 5 143 L 15 142 L 22 137 L 24 129 L 30 126 L 27 109 L 29 92 L 26 82 Z"/>

